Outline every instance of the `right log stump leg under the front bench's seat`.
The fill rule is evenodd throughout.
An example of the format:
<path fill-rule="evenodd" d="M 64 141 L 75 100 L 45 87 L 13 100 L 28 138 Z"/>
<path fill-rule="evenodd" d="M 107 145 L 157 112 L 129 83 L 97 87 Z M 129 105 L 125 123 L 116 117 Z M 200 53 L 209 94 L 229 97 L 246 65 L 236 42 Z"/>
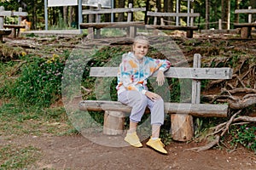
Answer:
<path fill-rule="evenodd" d="M 172 114 L 172 139 L 189 141 L 194 136 L 193 117 L 187 114 Z"/>

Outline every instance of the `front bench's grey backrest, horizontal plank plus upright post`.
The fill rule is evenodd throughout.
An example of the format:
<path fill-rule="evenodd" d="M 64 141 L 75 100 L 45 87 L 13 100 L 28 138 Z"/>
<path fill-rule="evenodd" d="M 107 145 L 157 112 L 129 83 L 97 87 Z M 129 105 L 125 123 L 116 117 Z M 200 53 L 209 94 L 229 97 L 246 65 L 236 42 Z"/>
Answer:
<path fill-rule="evenodd" d="M 90 77 L 117 77 L 118 67 L 91 67 Z M 202 79 L 231 79 L 233 70 L 228 67 L 201 68 L 201 54 L 194 55 L 193 67 L 171 67 L 165 72 L 165 77 L 192 79 L 191 103 L 199 104 L 201 98 Z M 153 77 L 156 77 L 157 72 Z"/>

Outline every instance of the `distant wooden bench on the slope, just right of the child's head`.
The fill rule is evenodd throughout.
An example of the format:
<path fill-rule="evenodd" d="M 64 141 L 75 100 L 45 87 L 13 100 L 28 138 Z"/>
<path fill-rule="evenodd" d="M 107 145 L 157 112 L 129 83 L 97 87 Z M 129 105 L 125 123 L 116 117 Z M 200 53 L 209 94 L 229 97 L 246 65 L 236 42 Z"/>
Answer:
<path fill-rule="evenodd" d="M 193 31 L 198 30 L 198 26 L 194 25 L 194 18 L 200 16 L 199 13 L 160 13 L 157 12 L 157 9 L 154 12 L 148 11 L 147 15 L 149 17 L 154 17 L 154 24 L 153 25 L 146 25 L 146 28 L 154 28 L 158 30 L 181 30 L 187 32 L 187 37 L 193 37 Z M 164 24 L 163 17 L 187 17 L 190 22 L 187 23 L 187 26 L 166 26 Z M 157 25 L 157 21 L 160 19 L 160 25 Z"/>

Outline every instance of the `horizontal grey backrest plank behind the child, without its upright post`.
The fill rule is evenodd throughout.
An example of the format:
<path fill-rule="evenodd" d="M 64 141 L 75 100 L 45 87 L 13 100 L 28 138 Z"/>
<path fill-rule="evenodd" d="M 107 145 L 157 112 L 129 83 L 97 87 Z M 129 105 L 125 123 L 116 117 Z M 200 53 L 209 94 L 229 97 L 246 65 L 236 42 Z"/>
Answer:
<path fill-rule="evenodd" d="M 90 77 L 117 77 L 118 67 L 91 67 Z M 171 67 L 165 72 L 165 77 L 172 78 L 191 78 L 191 79 L 231 79 L 232 69 L 221 68 L 190 68 L 190 67 Z M 156 77 L 157 72 L 153 77 Z"/>

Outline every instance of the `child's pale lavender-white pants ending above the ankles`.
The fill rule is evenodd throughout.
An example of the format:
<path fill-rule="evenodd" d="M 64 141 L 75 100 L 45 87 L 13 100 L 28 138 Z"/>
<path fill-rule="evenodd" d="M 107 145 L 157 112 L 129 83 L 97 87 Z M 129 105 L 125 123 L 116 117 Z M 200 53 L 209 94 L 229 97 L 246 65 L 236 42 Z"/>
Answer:
<path fill-rule="evenodd" d="M 146 107 L 151 112 L 151 124 L 162 125 L 165 120 L 164 100 L 151 100 L 137 90 L 126 90 L 118 95 L 119 102 L 132 107 L 131 122 L 140 122 Z"/>

